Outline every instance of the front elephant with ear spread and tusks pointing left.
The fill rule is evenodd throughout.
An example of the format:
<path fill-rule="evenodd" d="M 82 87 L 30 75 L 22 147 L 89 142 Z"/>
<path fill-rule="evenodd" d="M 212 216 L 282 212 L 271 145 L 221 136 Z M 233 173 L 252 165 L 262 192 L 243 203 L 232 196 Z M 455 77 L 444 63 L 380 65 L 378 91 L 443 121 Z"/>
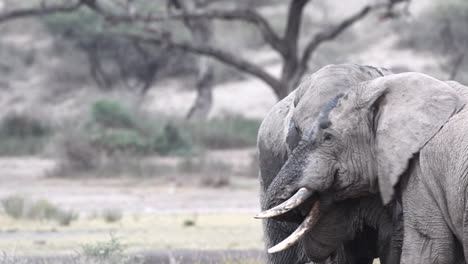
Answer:
<path fill-rule="evenodd" d="M 305 136 L 264 193 L 271 209 L 262 215 L 307 215 L 279 250 L 310 240 L 333 204 L 377 195 L 402 205 L 401 263 L 465 263 L 467 100 L 468 87 L 416 72 L 361 82 L 330 100 L 301 128 Z"/>

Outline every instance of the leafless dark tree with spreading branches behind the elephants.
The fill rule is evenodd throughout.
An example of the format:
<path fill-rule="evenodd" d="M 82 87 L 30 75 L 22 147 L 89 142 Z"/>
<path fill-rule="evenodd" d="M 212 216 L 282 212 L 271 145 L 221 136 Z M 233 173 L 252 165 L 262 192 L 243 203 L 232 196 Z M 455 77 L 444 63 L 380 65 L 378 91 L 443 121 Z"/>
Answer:
<path fill-rule="evenodd" d="M 386 8 L 387 13 L 390 13 L 394 4 L 404 1 L 407 0 L 385 0 L 362 6 L 356 13 L 344 18 L 336 25 L 327 27 L 327 29 L 311 36 L 304 48 L 299 48 L 298 44 L 304 8 L 310 0 L 289 1 L 286 26 L 281 34 L 276 32 L 270 22 L 255 9 L 211 7 L 213 3 L 217 2 L 216 0 L 167 0 L 168 8 L 165 11 L 137 8 L 136 2 L 138 1 L 136 0 L 75 0 L 68 5 L 47 5 L 43 2 L 37 8 L 0 14 L 0 22 L 28 15 L 73 12 L 82 6 L 86 6 L 102 15 L 109 25 L 127 23 L 136 26 L 138 29 L 127 32 L 118 31 L 114 34 L 138 42 L 162 45 L 169 49 L 181 50 L 218 60 L 261 79 L 273 89 L 278 99 L 282 99 L 297 86 L 301 77 L 307 71 L 312 54 L 321 44 L 335 39 L 372 10 Z M 114 5 L 110 5 L 110 2 L 114 2 Z M 156 6 L 158 4 L 154 3 L 152 5 Z M 261 33 L 265 42 L 280 55 L 282 60 L 280 76 L 276 77 L 268 73 L 260 65 L 247 58 L 242 58 L 239 54 L 233 54 L 223 49 L 223 47 L 214 46 L 211 41 L 211 20 L 242 21 L 255 27 Z M 190 29 L 192 38 L 190 40 L 178 39 L 171 29 L 160 26 L 160 24 L 168 21 L 182 21 Z M 196 119 L 206 118 L 211 107 L 211 88 L 213 86 L 211 61 L 202 59 L 199 61 L 199 65 L 198 97 L 189 113 L 189 117 Z"/>

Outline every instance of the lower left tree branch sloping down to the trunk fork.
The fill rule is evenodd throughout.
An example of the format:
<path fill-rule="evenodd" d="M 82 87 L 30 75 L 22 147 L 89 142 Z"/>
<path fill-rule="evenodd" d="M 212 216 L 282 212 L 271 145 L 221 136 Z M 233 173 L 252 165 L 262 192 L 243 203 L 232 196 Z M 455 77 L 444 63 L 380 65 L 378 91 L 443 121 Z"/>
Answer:
<path fill-rule="evenodd" d="M 155 37 L 153 35 L 143 35 L 136 33 L 119 33 L 119 36 L 124 36 L 130 39 L 137 41 L 143 41 L 158 45 L 165 45 L 168 48 L 178 49 L 186 52 L 191 52 L 199 55 L 209 56 L 214 59 L 217 59 L 227 65 L 233 66 L 236 69 L 254 75 L 255 77 L 260 78 L 268 85 L 270 85 L 275 92 L 281 89 L 281 83 L 271 74 L 264 71 L 259 66 L 252 64 L 244 59 L 241 59 L 239 56 L 226 52 L 224 50 L 218 49 L 216 47 L 208 45 L 194 44 L 192 42 L 185 41 L 173 41 L 169 35 L 162 35 L 161 37 Z"/>

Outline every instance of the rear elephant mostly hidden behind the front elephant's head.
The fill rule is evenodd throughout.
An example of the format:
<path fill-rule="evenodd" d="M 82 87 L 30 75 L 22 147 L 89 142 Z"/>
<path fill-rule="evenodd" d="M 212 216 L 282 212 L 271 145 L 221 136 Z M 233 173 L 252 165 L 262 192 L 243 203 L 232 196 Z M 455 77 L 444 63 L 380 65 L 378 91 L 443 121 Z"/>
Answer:
<path fill-rule="evenodd" d="M 289 198 L 290 192 L 282 192 L 287 187 L 282 184 L 285 180 L 275 179 L 275 176 L 300 140 L 306 139 L 326 103 L 353 85 L 388 74 L 391 73 L 369 66 L 327 66 L 304 80 L 298 89 L 273 107 L 262 122 L 258 137 L 263 210 Z M 291 162 L 289 168 L 293 167 Z M 285 169 L 282 172 L 285 173 Z M 274 186 L 272 182 L 275 182 Z M 372 263 L 375 257 L 381 257 L 382 263 L 398 263 L 400 252 L 395 241 L 401 238 L 392 240 L 392 229 L 395 228 L 391 219 L 393 212 L 391 208 L 382 206 L 378 196 L 322 207 L 322 217 L 314 229 L 299 244 L 268 254 L 269 263 Z M 307 205 L 303 209 L 263 220 L 267 248 L 282 241 L 298 227 L 304 212 L 307 213 Z"/>

